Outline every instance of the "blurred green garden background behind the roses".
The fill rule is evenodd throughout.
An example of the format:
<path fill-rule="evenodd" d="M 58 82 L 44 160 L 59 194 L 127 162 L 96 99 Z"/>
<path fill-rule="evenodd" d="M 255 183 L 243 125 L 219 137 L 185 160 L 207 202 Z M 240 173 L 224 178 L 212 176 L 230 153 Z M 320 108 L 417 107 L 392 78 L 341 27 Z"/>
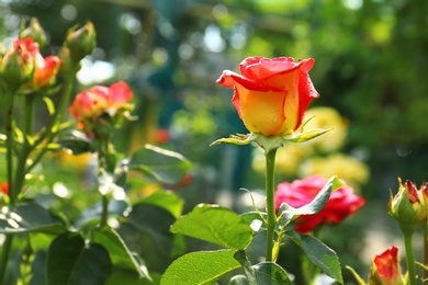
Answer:
<path fill-rule="evenodd" d="M 278 182 L 326 174 L 336 166 L 331 156 L 350 159 L 329 169 L 349 174 L 367 198 L 357 216 L 326 230 L 343 264 L 367 271 L 370 259 L 395 242 L 386 204 L 397 176 L 427 180 L 428 1 L 2 0 L 0 14 L 4 45 L 22 19 L 37 18 L 49 38 L 46 54 L 58 50 L 69 27 L 93 22 L 98 48 L 82 62 L 79 88 L 116 80 L 132 86 L 139 121 L 116 136 L 117 146 L 127 152 L 161 144 L 188 157 L 192 181 L 179 190 L 187 209 L 217 202 L 244 210 L 239 189 L 263 187 L 252 146 L 209 147 L 246 132 L 229 102 L 233 91 L 215 80 L 224 69 L 238 71 L 248 56 L 316 60 L 309 75 L 322 96 L 312 107 L 333 109 L 339 119 L 323 126 L 336 126 L 342 137 L 334 145 L 335 135 L 326 135 L 323 151 L 302 148 L 301 159 L 282 158 L 292 168 L 280 168 Z M 313 159 L 326 161 L 308 171 Z M 343 167 L 351 163 L 357 170 Z"/>

